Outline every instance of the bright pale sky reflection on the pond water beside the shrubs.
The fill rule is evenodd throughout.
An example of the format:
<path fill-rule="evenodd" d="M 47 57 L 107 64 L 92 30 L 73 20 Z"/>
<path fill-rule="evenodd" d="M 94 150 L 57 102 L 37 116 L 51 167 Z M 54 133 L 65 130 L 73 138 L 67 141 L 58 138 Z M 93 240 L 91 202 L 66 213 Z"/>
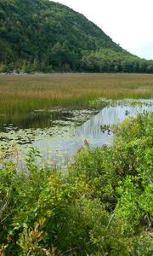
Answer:
<path fill-rule="evenodd" d="M 101 125 L 116 125 L 126 119 L 127 116 L 136 116 L 144 110 L 152 112 L 153 108 L 151 105 L 119 105 L 103 108 L 79 127 L 69 127 L 65 135 L 38 140 L 35 141 L 34 145 L 42 149 L 43 157 L 46 157 L 46 151 L 48 151 L 48 158 L 51 157 L 55 163 L 59 163 L 59 158 L 67 162 L 71 160 L 78 148 L 84 147 L 85 139 L 88 141 L 90 148 L 100 147 L 104 144 L 111 146 L 113 134 L 112 132 L 108 134 L 107 131 L 102 132 Z"/>

